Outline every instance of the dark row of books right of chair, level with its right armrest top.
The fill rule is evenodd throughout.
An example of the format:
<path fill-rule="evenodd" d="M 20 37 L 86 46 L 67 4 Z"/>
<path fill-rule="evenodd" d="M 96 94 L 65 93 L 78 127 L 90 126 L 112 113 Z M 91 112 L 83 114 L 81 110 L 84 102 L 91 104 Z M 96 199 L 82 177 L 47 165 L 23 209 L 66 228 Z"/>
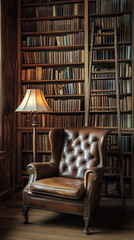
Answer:
<path fill-rule="evenodd" d="M 111 169 L 107 169 L 111 168 Z M 112 169 L 117 168 L 117 169 Z M 118 156 L 107 156 L 106 158 L 106 165 L 105 165 L 105 172 L 109 174 L 119 174 L 120 162 Z M 130 157 L 123 157 L 123 170 L 124 176 L 131 176 L 131 158 Z"/>

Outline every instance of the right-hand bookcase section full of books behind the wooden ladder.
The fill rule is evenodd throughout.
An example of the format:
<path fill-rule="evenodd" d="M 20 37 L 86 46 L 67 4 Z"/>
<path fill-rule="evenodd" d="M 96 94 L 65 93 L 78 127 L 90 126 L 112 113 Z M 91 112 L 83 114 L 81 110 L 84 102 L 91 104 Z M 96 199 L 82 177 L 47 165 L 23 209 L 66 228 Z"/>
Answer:
<path fill-rule="evenodd" d="M 90 4 L 90 2 L 89 2 Z M 94 39 L 89 41 L 90 60 L 87 70 L 92 72 L 90 86 L 89 122 L 91 126 L 110 128 L 108 154 L 106 161 L 103 194 L 118 197 L 120 192 L 119 150 L 122 148 L 122 165 L 125 180 L 125 195 L 133 193 L 133 74 L 132 74 L 132 26 L 133 4 L 131 1 L 96 0 L 95 14 L 89 13 L 89 32 L 92 22 L 95 23 Z M 132 4 L 132 5 L 131 5 Z M 114 55 L 114 20 L 117 22 L 117 68 L 119 84 L 116 84 Z M 119 85 L 119 102 L 116 99 L 116 88 Z M 86 93 L 85 93 L 86 94 Z M 88 93 L 87 93 L 88 94 Z M 119 111 L 117 110 L 119 108 Z M 86 106 L 88 112 L 88 104 Z M 86 116 L 86 119 L 88 116 Z M 87 123 L 86 123 L 87 124 Z M 121 136 L 118 137 L 118 126 Z M 129 131 L 130 130 L 130 131 Z M 118 144 L 117 144 L 118 142 Z"/>

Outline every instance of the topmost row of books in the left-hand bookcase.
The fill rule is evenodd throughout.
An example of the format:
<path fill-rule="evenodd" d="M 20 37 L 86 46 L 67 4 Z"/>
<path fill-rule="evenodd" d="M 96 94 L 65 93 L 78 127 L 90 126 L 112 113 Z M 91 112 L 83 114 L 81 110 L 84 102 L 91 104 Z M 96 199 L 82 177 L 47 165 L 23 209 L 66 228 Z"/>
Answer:
<path fill-rule="evenodd" d="M 64 3 L 46 6 L 26 7 L 23 8 L 23 18 L 38 17 L 57 17 L 57 16 L 77 16 L 84 14 L 83 3 Z"/>

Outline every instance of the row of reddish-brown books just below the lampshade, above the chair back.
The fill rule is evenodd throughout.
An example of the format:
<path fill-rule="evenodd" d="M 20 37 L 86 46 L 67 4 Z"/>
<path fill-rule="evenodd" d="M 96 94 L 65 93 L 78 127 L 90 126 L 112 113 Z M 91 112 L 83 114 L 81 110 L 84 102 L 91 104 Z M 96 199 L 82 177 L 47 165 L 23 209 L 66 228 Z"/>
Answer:
<path fill-rule="evenodd" d="M 29 119 L 27 114 L 22 114 L 22 127 L 31 127 L 32 119 Z M 39 114 L 37 118 L 38 127 L 80 127 L 84 126 L 84 115 L 83 114 Z"/>

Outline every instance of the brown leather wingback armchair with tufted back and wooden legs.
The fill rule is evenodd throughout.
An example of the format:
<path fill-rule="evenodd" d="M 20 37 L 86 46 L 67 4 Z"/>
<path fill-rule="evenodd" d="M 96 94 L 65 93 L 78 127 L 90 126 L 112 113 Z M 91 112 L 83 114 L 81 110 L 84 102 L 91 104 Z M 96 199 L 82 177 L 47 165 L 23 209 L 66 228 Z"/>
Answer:
<path fill-rule="evenodd" d="M 89 234 L 89 220 L 97 210 L 103 180 L 108 131 L 99 128 L 55 128 L 50 131 L 50 162 L 27 166 L 29 182 L 23 190 L 23 214 L 29 208 L 78 214 Z"/>

